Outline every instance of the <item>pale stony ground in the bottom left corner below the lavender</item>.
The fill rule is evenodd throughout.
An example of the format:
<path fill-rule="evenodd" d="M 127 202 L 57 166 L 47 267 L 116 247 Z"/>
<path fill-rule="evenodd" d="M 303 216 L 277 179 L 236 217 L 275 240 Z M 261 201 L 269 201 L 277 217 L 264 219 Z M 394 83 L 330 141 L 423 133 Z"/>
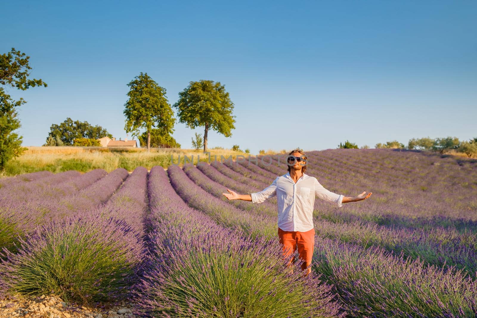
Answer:
<path fill-rule="evenodd" d="M 123 302 L 119 306 L 104 308 L 76 307 L 67 304 L 60 297 L 44 296 L 25 298 L 14 297 L 0 300 L 0 318 L 126 318 L 139 317 L 132 314 L 134 304 Z"/>

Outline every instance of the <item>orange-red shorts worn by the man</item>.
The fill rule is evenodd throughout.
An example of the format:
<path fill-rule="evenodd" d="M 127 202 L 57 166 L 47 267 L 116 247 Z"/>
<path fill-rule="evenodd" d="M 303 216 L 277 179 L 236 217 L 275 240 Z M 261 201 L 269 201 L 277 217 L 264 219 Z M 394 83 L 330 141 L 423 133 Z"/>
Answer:
<path fill-rule="evenodd" d="M 294 253 L 298 249 L 300 259 L 305 263 L 311 263 L 313 256 L 313 246 L 315 243 L 315 229 L 311 229 L 306 232 L 295 231 L 283 231 L 278 228 L 278 236 L 280 237 L 280 243 L 283 244 L 283 256 L 286 258 L 290 254 Z M 303 268 L 306 268 L 302 264 Z"/>

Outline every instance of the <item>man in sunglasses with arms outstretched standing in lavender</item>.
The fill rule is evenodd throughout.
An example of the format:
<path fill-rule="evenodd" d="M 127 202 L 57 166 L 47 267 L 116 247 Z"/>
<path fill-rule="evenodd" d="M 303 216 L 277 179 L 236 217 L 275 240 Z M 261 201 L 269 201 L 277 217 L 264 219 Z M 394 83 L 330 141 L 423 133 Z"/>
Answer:
<path fill-rule="evenodd" d="M 315 177 L 305 174 L 307 157 L 300 149 L 289 153 L 287 159 L 288 173 L 277 177 L 271 185 L 260 192 L 250 195 L 239 195 L 227 189 L 223 193 L 229 200 L 252 201 L 260 203 L 277 196 L 278 204 L 278 236 L 283 245 L 283 256 L 286 258 L 298 249 L 301 268 L 306 275 L 311 273 L 311 257 L 315 229 L 313 227 L 313 207 L 315 195 L 327 202 L 342 206 L 343 203 L 356 202 L 369 198 L 372 192 L 357 196 L 344 196 L 326 190 Z"/>

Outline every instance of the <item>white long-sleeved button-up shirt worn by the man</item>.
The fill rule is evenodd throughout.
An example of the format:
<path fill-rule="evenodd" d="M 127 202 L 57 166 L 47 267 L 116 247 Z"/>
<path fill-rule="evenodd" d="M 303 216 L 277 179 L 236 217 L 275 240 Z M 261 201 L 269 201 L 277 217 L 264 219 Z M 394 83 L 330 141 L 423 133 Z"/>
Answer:
<path fill-rule="evenodd" d="M 283 231 L 306 232 L 313 228 L 315 195 L 327 202 L 342 206 L 344 195 L 326 190 L 315 177 L 303 174 L 297 183 L 290 173 L 277 177 L 271 185 L 252 193 L 252 203 L 260 203 L 277 196 L 278 227 Z"/>

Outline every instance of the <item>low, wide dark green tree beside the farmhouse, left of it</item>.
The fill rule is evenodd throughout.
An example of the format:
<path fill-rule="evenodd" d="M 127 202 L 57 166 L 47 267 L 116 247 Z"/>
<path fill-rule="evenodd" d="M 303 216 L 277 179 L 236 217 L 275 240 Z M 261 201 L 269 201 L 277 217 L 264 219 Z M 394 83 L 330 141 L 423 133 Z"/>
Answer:
<path fill-rule="evenodd" d="M 75 139 L 99 139 L 103 137 L 113 138 L 113 135 L 111 133 L 108 133 L 106 129 L 99 125 L 93 126 L 86 121 L 80 122 L 78 120 L 73 122 L 73 119 L 68 117 L 64 122 L 60 123 L 59 125 L 51 125 L 50 133 L 48 133 L 48 137 L 46 137 L 46 144 L 49 143 L 48 140 L 50 137 L 58 137 L 64 145 L 71 146 L 73 145 L 73 141 Z M 62 144 L 56 143 L 56 145 L 60 146 Z"/>

